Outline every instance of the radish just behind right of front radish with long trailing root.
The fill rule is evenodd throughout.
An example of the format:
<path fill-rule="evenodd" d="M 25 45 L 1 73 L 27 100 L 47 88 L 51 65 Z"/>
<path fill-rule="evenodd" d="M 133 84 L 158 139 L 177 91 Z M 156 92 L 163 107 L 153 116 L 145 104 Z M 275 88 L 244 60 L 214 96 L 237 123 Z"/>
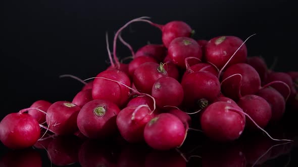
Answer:
<path fill-rule="evenodd" d="M 271 119 L 271 107 L 262 97 L 257 95 L 245 95 L 239 99 L 237 105 L 261 127 L 265 128 Z M 246 120 L 246 128 L 250 130 L 258 129 L 257 126 Z"/>

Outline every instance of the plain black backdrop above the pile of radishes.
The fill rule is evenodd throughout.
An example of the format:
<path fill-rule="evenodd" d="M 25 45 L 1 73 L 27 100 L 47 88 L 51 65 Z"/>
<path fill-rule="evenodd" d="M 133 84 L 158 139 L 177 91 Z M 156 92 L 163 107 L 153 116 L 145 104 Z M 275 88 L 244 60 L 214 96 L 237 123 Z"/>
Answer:
<path fill-rule="evenodd" d="M 29 107 L 39 99 L 71 101 L 82 88 L 72 78 L 93 77 L 108 64 L 105 33 L 110 49 L 114 33 L 131 19 L 148 16 L 166 24 L 181 20 L 195 30 L 195 39 L 220 35 L 247 41 L 249 56 L 261 55 L 274 70 L 297 70 L 294 1 L 1 1 L 0 119 Z M 147 23 L 133 23 L 122 33 L 134 50 L 161 43 L 161 32 Z M 130 56 L 120 42 L 120 57 Z"/>

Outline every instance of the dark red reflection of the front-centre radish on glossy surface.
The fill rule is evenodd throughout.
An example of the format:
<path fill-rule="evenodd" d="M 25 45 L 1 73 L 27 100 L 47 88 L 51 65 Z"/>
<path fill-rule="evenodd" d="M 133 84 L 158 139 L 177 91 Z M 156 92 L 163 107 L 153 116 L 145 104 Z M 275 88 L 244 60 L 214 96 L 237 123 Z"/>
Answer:
<path fill-rule="evenodd" d="M 152 150 L 145 159 L 145 167 L 186 167 L 187 162 L 178 151 Z"/>

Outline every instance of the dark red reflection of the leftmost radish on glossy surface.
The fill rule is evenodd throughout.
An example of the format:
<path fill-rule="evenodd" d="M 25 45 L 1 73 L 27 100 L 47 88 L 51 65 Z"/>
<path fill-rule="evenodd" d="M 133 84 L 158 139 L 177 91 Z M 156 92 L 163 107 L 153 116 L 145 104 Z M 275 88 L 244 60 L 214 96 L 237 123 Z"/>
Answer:
<path fill-rule="evenodd" d="M 41 167 L 40 152 L 33 148 L 9 150 L 0 159 L 2 167 Z"/>

